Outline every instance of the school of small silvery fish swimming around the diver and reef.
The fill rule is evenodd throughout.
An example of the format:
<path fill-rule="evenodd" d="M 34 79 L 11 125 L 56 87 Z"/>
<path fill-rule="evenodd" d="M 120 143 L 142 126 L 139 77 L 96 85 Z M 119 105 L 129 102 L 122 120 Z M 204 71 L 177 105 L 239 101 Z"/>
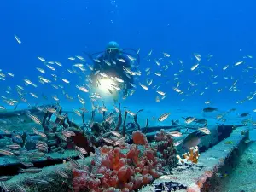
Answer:
<path fill-rule="evenodd" d="M 21 44 L 21 40 L 17 35 L 15 35 L 15 40 L 18 44 L 20 44 L 19 46 L 23 45 Z M 137 55 L 140 51 L 141 49 L 137 50 Z M 209 96 L 211 96 L 212 93 L 219 95 L 225 94 L 227 92 L 231 94 L 236 94 L 236 92 L 241 93 L 245 84 L 256 84 L 256 75 L 254 73 L 250 74 L 250 72 L 254 72 L 256 70 L 251 62 L 253 59 L 252 55 L 245 55 L 240 60 L 235 62 L 233 61 L 233 63 L 230 61 L 228 64 L 213 64 L 211 62 L 213 55 L 203 56 L 198 53 L 195 53 L 191 57 L 192 64 L 185 63 L 182 60 L 175 60 L 172 58 L 171 54 L 167 53 L 166 51 L 160 53 L 160 57 L 154 57 L 153 55 L 154 52 L 153 49 L 151 49 L 148 55 L 146 55 L 144 58 L 145 61 L 148 61 L 148 64 L 145 68 L 133 65 L 133 63 L 137 60 L 134 55 L 126 55 L 129 61 L 131 61 L 131 67 L 124 66 L 123 72 L 129 79 L 131 76 L 133 76 L 137 83 L 131 84 L 130 94 L 124 96 L 123 99 L 126 99 L 128 96 L 133 96 L 134 92 L 137 90 L 145 94 L 145 96 L 152 97 L 152 102 L 155 101 L 156 103 L 162 102 L 162 100 L 164 100 L 166 97 L 172 98 L 172 96 L 175 96 L 175 98 L 179 98 L 180 101 L 184 102 L 185 100 L 189 100 L 189 98 L 195 99 L 197 97 L 203 97 L 207 95 L 208 97 L 206 98 L 205 102 L 203 102 L 203 104 L 209 105 L 212 104 L 213 98 L 212 100 L 209 100 Z M 97 63 L 101 62 L 97 59 L 94 59 L 94 61 Z M 111 61 L 104 60 L 108 66 L 114 66 L 118 61 L 121 63 L 126 62 L 123 58 L 117 58 L 116 60 Z M 101 79 L 112 80 L 113 84 L 108 87 L 108 93 L 110 95 L 113 95 L 114 92 L 119 93 L 122 90 L 123 84 L 125 82 L 125 79 L 108 76 L 108 74 L 106 74 L 104 71 L 94 71 L 94 67 L 90 63 L 91 61 L 86 61 L 84 56 L 81 55 L 69 56 L 66 62 L 48 60 L 39 55 L 37 58 L 35 58 L 35 62 L 37 64 L 34 67 L 34 72 L 35 74 L 38 74 L 38 78 L 26 77 L 25 72 L 24 78 L 17 80 L 15 79 L 14 73 L 3 72 L 3 70 L 0 69 L 0 80 L 6 82 L 13 81 L 13 79 L 17 80 L 17 84 L 9 85 L 6 88 L 3 88 L 3 93 L 0 96 L 2 100 L 0 111 L 5 111 L 7 108 L 12 106 L 17 108 L 18 104 L 20 103 L 26 103 L 28 107 L 31 107 L 32 103 L 42 102 L 43 100 L 55 103 L 72 101 L 82 105 L 88 102 L 91 104 L 93 110 L 97 109 L 97 113 L 102 114 L 109 112 L 110 108 L 106 108 L 104 105 L 101 106 L 98 104 L 98 102 L 101 102 L 102 99 L 104 99 L 104 96 L 102 93 L 95 91 L 93 81 L 90 79 L 90 73 L 94 73 L 98 77 L 96 86 L 101 85 Z M 70 65 L 69 62 L 72 62 L 72 65 Z M 177 68 L 172 70 L 173 66 L 177 66 Z M 233 75 L 232 70 L 234 71 L 238 67 L 240 67 L 238 69 L 240 70 L 240 75 Z M 221 73 L 218 73 L 219 71 L 221 71 Z M 204 79 L 206 75 L 207 79 Z M 189 79 L 187 77 L 189 77 Z M 83 83 L 79 84 L 79 81 L 74 79 L 83 79 Z M 71 91 L 72 88 L 73 91 Z M 50 95 L 45 95 L 46 92 L 50 93 Z M 247 96 L 243 95 L 241 100 L 233 102 L 236 102 L 236 104 L 250 102 L 254 99 L 255 95 L 256 90 L 250 90 L 249 93 L 247 93 Z M 45 113 L 56 113 L 54 108 L 38 107 L 38 110 L 45 111 Z M 120 109 L 115 105 L 113 105 L 111 110 L 115 111 L 115 113 L 120 113 Z M 169 107 L 166 106 L 166 108 L 161 110 L 164 112 L 159 117 L 155 118 L 160 123 L 166 121 L 169 116 L 172 116 Z M 222 112 L 217 115 L 216 119 L 224 122 L 224 117 L 232 111 L 233 110 L 230 109 L 230 111 Z M 85 108 L 73 108 L 73 113 L 79 117 L 82 116 L 83 113 L 87 112 L 89 112 L 89 110 Z M 206 107 L 203 108 L 203 112 L 217 113 L 218 108 Z M 256 112 L 256 109 L 253 109 L 253 112 Z M 128 113 L 132 118 L 137 117 L 137 113 L 134 113 L 127 108 L 125 109 L 125 113 Z M 245 118 L 249 115 L 250 113 L 239 114 L 241 118 Z M 42 125 L 42 119 L 38 119 L 36 115 L 32 113 L 26 113 L 26 116 L 30 118 L 36 125 Z M 61 119 L 61 116 L 59 116 L 59 118 Z M 105 121 L 111 123 L 113 122 L 113 119 L 114 116 L 112 113 L 110 113 Z M 204 125 L 203 127 L 199 127 L 198 131 L 201 131 L 206 135 L 211 134 L 211 131 L 207 129 L 206 119 L 197 119 L 195 117 L 187 117 L 183 119 L 185 125 Z M 243 119 L 242 123 L 255 123 L 255 121 L 252 119 Z M 8 130 L 3 129 L 2 127 L 1 131 L 6 134 L 10 133 Z M 39 137 L 46 137 L 44 132 L 38 131 L 38 129 L 33 126 L 32 131 Z M 63 140 L 75 136 L 73 131 L 63 130 L 61 133 Z M 112 139 L 102 137 L 101 139 L 103 142 L 117 146 L 119 143 L 125 141 L 126 137 L 122 137 L 118 131 L 110 131 L 110 133 L 119 139 L 117 141 L 113 141 Z M 182 133 L 179 131 L 171 131 L 167 132 L 167 134 L 172 137 L 182 136 Z M 21 139 L 20 134 L 15 135 L 15 137 L 16 139 Z M 173 143 L 173 145 L 177 147 L 183 142 L 184 141 L 180 139 Z M 0 154 L 14 157 L 15 152 L 13 151 L 21 150 L 20 145 L 15 143 L 9 144 L 6 147 L 9 149 L 0 149 Z M 38 152 L 30 153 L 28 151 L 24 151 L 22 153 L 26 153 L 28 156 L 30 156 L 31 159 L 37 159 L 39 157 L 45 156 L 45 154 L 48 153 L 47 143 L 38 142 L 36 147 L 38 148 Z M 75 149 L 77 150 L 81 159 L 84 159 L 84 155 L 88 154 L 84 148 L 76 146 Z M 73 160 L 72 158 L 67 158 L 67 160 L 69 160 L 74 167 L 80 166 L 77 160 Z M 31 162 L 24 161 L 23 163 L 27 166 L 27 168 L 20 169 L 20 172 L 37 173 L 42 171 L 42 169 L 33 167 Z M 55 172 L 63 178 L 68 178 L 67 173 L 62 170 L 56 170 Z M 98 177 L 101 176 L 98 175 Z M 11 177 L 0 177 L 0 182 L 3 189 L 7 189 L 3 181 L 7 181 L 9 179 L 11 179 Z M 28 182 L 46 184 L 49 181 L 31 179 Z M 25 191 L 25 189 L 23 190 L 21 186 L 17 186 L 17 188 L 20 191 Z"/>

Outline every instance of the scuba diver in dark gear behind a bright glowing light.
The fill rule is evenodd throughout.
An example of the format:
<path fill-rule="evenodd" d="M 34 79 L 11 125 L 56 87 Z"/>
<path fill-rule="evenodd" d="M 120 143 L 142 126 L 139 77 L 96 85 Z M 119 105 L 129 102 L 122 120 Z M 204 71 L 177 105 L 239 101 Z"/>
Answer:
<path fill-rule="evenodd" d="M 139 63 L 139 55 L 130 54 L 124 52 L 125 50 L 134 51 L 134 49 L 120 49 L 119 44 L 114 41 L 111 41 L 107 44 L 107 47 L 102 52 L 97 52 L 95 54 L 86 54 L 93 61 L 93 70 L 90 74 L 90 79 L 94 86 L 100 84 L 99 82 L 99 73 L 104 73 L 108 78 L 119 79 L 119 83 L 122 83 L 120 89 L 123 90 L 123 96 L 128 95 L 128 91 L 132 88 L 134 83 L 133 76 L 125 73 L 124 68 L 131 69 L 132 66 Z M 95 58 L 93 55 L 97 55 Z M 134 58 L 131 61 L 130 58 Z M 112 94 L 112 91 L 108 89 Z"/>

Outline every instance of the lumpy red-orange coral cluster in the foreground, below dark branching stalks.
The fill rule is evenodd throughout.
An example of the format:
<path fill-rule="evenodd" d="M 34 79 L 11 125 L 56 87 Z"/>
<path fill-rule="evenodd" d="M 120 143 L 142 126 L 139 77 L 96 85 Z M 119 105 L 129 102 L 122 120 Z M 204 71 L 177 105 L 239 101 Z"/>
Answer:
<path fill-rule="evenodd" d="M 96 148 L 91 166 L 73 169 L 74 191 L 131 191 L 160 177 L 165 160 L 156 156 L 157 150 L 148 145 L 141 131 L 134 132 L 133 139 L 143 146 L 120 143 L 115 148 Z"/>

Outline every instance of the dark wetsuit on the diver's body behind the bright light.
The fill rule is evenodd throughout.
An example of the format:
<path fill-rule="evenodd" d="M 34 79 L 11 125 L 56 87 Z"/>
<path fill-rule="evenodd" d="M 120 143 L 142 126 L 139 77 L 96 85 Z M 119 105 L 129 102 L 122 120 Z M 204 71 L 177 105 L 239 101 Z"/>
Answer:
<path fill-rule="evenodd" d="M 119 59 L 125 60 L 125 62 L 119 61 Z M 100 70 L 103 73 L 106 73 L 108 77 L 118 77 L 120 79 L 124 80 L 124 92 L 125 95 L 127 94 L 127 91 L 131 89 L 131 84 L 133 84 L 133 77 L 128 78 L 125 75 L 125 71 L 123 67 L 130 68 L 131 63 L 130 60 L 127 56 L 122 55 L 122 54 L 117 54 L 117 55 L 108 55 L 108 54 L 102 54 L 98 55 L 96 57 L 96 60 L 100 62 L 94 62 L 94 67 L 93 67 L 93 74 L 91 75 L 91 78 L 93 82 L 96 83 L 96 71 Z M 109 66 L 105 61 L 108 61 L 111 65 Z M 115 62 L 116 64 L 114 64 Z"/>

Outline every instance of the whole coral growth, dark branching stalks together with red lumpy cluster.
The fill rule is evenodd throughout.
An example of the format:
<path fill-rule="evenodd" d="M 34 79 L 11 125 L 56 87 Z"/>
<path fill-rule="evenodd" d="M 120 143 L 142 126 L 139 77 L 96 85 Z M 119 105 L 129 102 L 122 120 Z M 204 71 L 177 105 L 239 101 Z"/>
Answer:
<path fill-rule="evenodd" d="M 100 107 L 97 108 L 100 110 Z M 131 129 L 137 129 L 137 131 L 132 130 L 132 134 L 131 131 L 126 132 L 127 111 L 124 112 L 124 118 L 120 108 L 117 113 L 103 111 L 104 113 L 101 113 L 104 120 L 102 123 L 97 123 L 94 122 L 95 109 L 93 109 L 90 123 L 85 123 L 85 108 L 79 110 L 74 112 L 82 113 L 79 115 L 83 120 L 81 126 L 73 122 L 73 119 L 69 119 L 67 113 L 62 113 L 59 105 L 38 107 L 38 111 L 44 115 L 43 118 L 28 113 L 27 116 L 30 116 L 33 122 L 38 120 L 38 123 L 32 128 L 32 137 L 35 139 L 30 138 L 31 135 L 26 133 L 18 137 L 21 147 L 25 146 L 29 147 L 28 150 L 33 150 L 32 153 L 19 154 L 20 162 L 29 165 L 30 162 L 40 159 L 41 155 L 49 160 L 47 153 L 63 153 L 66 149 L 76 149 L 76 155 L 82 159 L 83 164 L 75 160 L 76 157 L 67 158 L 70 161 L 68 169 L 71 168 L 72 172 L 72 177 L 68 177 L 67 180 L 72 183 L 75 192 L 137 190 L 160 177 L 165 172 L 165 166 L 176 163 L 176 149 L 170 134 L 168 135 L 164 130 L 157 131 L 154 137 L 156 142 L 148 143 L 150 140 L 140 131 L 137 114 L 143 109 L 134 116 L 131 115 L 134 123 L 130 122 L 128 125 L 131 125 Z M 55 120 L 53 120 L 54 116 Z M 13 135 L 16 141 L 17 137 Z M 29 138 L 31 142 L 28 141 Z M 86 160 L 91 162 L 85 166 L 84 156 L 88 154 L 90 157 Z M 61 174 L 61 177 L 67 178 L 65 172 Z"/>

